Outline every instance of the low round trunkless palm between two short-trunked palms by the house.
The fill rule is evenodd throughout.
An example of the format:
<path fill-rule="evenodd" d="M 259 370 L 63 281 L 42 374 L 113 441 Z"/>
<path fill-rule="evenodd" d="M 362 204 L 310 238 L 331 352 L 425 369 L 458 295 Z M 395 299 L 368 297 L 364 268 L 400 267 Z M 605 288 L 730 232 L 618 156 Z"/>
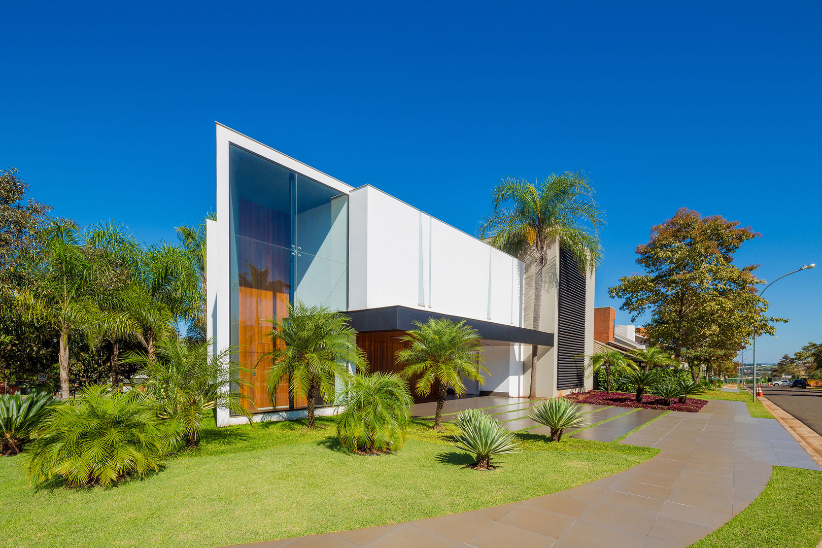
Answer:
<path fill-rule="evenodd" d="M 396 373 L 354 375 L 338 401 L 337 440 L 346 449 L 378 454 L 405 444 L 413 400 Z"/>

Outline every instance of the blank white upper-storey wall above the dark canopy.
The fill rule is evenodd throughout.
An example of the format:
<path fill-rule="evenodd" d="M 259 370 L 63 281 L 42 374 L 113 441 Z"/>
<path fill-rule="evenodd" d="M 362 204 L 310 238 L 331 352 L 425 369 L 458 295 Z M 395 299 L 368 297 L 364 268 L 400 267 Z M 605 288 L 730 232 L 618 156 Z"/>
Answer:
<path fill-rule="evenodd" d="M 374 187 L 351 191 L 349 309 L 410 306 L 521 326 L 523 264 Z"/>

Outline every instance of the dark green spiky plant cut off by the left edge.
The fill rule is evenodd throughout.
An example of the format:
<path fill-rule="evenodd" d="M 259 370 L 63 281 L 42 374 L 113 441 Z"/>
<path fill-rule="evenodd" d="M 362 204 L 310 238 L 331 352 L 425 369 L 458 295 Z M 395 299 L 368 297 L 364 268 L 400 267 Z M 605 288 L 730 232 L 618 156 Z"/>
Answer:
<path fill-rule="evenodd" d="M 21 452 L 37 425 L 52 408 L 54 398 L 48 392 L 0 395 L 0 454 L 16 455 Z"/>

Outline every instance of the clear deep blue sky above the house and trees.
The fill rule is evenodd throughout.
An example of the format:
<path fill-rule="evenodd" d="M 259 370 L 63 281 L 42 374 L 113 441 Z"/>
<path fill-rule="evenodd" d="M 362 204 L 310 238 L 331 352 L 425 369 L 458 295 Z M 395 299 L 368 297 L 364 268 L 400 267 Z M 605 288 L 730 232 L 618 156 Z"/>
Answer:
<path fill-rule="evenodd" d="M 597 306 L 683 206 L 762 233 L 738 261 L 765 279 L 822 264 L 819 2 L 397 4 L 5 2 L 0 165 L 172 239 L 215 208 L 217 120 L 469 233 L 501 177 L 583 169 Z M 820 288 L 769 289 L 791 323 L 757 361 L 822 342 Z"/>

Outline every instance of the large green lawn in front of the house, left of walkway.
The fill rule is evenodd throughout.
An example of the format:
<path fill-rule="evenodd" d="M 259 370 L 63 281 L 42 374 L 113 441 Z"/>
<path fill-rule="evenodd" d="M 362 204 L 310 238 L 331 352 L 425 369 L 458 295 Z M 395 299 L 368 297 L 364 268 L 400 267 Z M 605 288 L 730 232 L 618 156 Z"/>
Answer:
<path fill-rule="evenodd" d="M 0 546 L 221 546 L 369 527 L 568 489 L 657 453 L 522 434 L 523 452 L 476 472 L 447 444 L 450 425 L 415 421 L 399 452 L 365 457 L 339 449 L 332 419 L 319 422 L 210 428 L 163 472 L 109 490 L 34 490 L 19 457 L 0 458 Z"/>

